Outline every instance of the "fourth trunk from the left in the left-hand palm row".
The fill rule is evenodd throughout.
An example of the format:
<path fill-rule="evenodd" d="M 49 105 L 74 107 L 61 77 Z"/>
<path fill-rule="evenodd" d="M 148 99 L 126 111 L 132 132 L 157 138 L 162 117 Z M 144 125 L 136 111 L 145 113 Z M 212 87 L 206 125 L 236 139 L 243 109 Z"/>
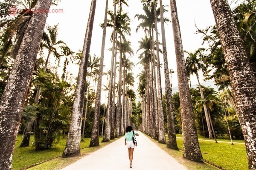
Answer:
<path fill-rule="evenodd" d="M 105 122 L 105 132 L 102 139 L 102 142 L 110 142 L 110 131 L 111 131 L 111 115 L 112 115 L 112 88 L 113 88 L 113 67 L 114 67 L 114 57 L 115 57 L 115 43 L 116 43 L 116 2 L 114 0 L 114 25 L 113 25 L 113 44 L 112 44 L 112 58 L 111 58 L 111 70 L 110 70 L 110 79 L 108 86 L 108 106 L 106 113 L 106 122 Z"/>

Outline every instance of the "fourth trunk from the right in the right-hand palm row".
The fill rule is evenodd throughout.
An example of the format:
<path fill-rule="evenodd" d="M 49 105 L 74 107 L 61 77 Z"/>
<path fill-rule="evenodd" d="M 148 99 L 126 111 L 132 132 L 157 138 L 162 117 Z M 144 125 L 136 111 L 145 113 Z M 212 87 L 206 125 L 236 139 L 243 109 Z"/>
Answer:
<path fill-rule="evenodd" d="M 156 12 L 156 0 L 154 0 L 154 23 L 156 31 L 156 42 L 157 42 L 157 85 L 158 85 L 158 121 L 159 121 L 159 136 L 158 142 L 166 144 L 165 137 L 165 125 L 163 115 L 163 96 L 162 96 L 162 85 L 161 85 L 161 73 L 160 73 L 160 58 L 159 58 L 159 42 L 158 42 L 158 30 L 157 30 L 157 12 Z"/>

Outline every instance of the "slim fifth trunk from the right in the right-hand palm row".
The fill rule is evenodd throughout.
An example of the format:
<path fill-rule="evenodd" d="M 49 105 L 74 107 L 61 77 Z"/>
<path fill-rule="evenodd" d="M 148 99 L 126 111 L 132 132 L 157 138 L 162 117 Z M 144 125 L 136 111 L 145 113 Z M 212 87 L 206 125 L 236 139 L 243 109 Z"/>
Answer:
<path fill-rule="evenodd" d="M 158 121 L 158 109 L 157 109 L 157 80 L 156 80 L 156 60 L 154 54 L 154 30 L 152 29 L 152 51 L 153 51 L 153 77 L 154 77 L 154 128 L 155 128 L 155 136 L 154 139 L 158 140 L 159 136 L 159 121 Z"/>

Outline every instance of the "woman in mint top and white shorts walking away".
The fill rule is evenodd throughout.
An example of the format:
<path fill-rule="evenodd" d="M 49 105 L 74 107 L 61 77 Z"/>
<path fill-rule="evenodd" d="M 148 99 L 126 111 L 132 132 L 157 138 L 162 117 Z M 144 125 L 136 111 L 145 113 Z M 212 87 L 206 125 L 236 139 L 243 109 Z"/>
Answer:
<path fill-rule="evenodd" d="M 139 134 L 136 133 L 136 131 L 134 131 L 131 126 L 127 126 L 125 129 L 125 132 L 126 132 L 125 133 L 125 145 L 127 145 L 127 147 L 128 147 L 128 156 L 130 159 L 130 167 L 131 167 L 131 163 L 132 163 L 132 159 L 133 159 L 133 151 L 134 151 L 134 147 L 135 147 L 135 145 L 132 141 L 132 137 L 133 137 L 133 134 L 135 134 L 136 136 L 139 136 Z"/>

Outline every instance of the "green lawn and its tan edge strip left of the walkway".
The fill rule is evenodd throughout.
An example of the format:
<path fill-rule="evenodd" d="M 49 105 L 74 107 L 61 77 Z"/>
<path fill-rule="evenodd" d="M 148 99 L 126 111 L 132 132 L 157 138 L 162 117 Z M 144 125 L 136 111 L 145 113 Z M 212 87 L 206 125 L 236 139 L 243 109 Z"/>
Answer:
<path fill-rule="evenodd" d="M 100 141 L 101 141 L 101 139 L 100 139 Z M 15 143 L 15 150 L 13 153 L 13 161 L 12 161 L 13 170 L 22 169 L 22 168 L 28 167 L 32 164 L 40 163 L 42 161 L 46 161 L 48 159 L 55 158 L 57 156 L 61 156 L 62 152 L 65 148 L 66 140 L 67 140 L 67 137 L 65 136 L 65 138 L 61 138 L 60 143 L 56 144 L 51 149 L 35 151 L 35 147 L 32 144 L 32 142 L 34 142 L 34 136 L 31 136 L 31 138 L 30 138 L 29 147 L 20 147 L 20 143 L 22 141 L 22 136 L 18 135 L 17 139 L 16 139 L 16 143 Z M 97 149 L 109 144 L 108 142 L 105 142 L 105 143 L 101 143 L 100 147 L 89 147 L 90 138 L 85 138 L 84 141 L 85 142 L 81 142 L 81 145 L 80 145 L 81 148 L 84 148 L 81 150 L 81 155 L 91 153 L 91 152 L 96 151 Z M 71 163 L 70 161 L 72 161 L 72 160 L 76 161 L 77 159 L 79 159 L 79 157 L 73 157 L 72 159 L 69 159 L 69 161 L 67 161 L 67 159 L 57 158 L 57 159 L 53 159 L 51 161 L 47 161 L 46 164 L 49 164 L 49 165 L 46 165 L 46 164 L 45 164 L 45 166 L 38 165 L 38 166 L 34 167 L 34 169 L 39 168 L 40 170 L 42 170 L 42 169 L 44 169 L 44 167 L 46 167 L 46 169 L 49 170 L 49 169 L 52 169 L 51 168 L 52 165 L 53 165 L 53 167 L 58 167 L 59 165 L 64 166 L 64 165 L 70 164 Z M 48 163 L 48 162 L 51 162 L 51 163 Z M 68 162 L 68 164 L 66 164 L 67 162 Z M 40 168 L 40 167 L 42 167 L 42 168 Z"/>

